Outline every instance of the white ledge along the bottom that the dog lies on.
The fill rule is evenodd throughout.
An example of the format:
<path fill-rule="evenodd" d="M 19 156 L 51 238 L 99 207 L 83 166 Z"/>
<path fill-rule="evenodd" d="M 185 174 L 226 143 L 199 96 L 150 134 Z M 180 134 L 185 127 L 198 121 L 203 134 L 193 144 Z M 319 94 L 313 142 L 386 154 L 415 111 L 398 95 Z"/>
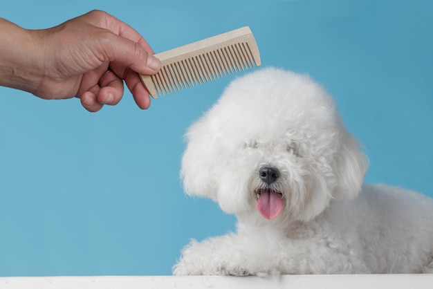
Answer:
<path fill-rule="evenodd" d="M 1 289 L 15 288 L 433 288 L 433 274 L 285 275 L 260 277 L 219 276 L 98 276 L 98 277 L 1 277 Z"/>

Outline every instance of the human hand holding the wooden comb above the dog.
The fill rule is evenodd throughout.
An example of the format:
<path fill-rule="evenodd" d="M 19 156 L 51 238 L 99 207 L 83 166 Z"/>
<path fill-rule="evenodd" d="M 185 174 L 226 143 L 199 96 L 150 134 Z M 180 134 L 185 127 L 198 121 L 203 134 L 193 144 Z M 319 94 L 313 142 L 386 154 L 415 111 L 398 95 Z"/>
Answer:
<path fill-rule="evenodd" d="M 44 99 L 79 97 L 85 109 L 98 111 L 120 101 L 125 80 L 136 104 L 149 107 L 149 93 L 138 73 L 157 73 L 160 62 L 127 24 L 94 10 L 53 28 L 26 32 L 22 41 L 32 41 L 26 46 L 33 50 L 17 48 L 23 53 L 15 52 L 19 60 L 12 63 L 13 73 L 21 80 L 10 87 Z"/>

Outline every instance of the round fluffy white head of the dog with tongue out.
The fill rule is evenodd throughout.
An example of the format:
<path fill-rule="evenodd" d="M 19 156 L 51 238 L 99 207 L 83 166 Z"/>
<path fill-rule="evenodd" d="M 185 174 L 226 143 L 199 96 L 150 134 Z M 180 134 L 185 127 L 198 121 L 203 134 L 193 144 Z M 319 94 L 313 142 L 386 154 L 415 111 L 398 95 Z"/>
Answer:
<path fill-rule="evenodd" d="M 275 68 L 234 80 L 186 136 L 185 192 L 263 220 L 308 221 L 367 169 L 324 88 Z"/>

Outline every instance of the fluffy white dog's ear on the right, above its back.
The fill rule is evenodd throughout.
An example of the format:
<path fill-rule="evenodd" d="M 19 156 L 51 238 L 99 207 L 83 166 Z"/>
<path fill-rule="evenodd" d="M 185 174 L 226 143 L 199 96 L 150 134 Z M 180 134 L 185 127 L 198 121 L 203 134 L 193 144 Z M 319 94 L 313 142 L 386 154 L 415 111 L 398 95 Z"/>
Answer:
<path fill-rule="evenodd" d="M 354 198 L 360 192 L 368 158 L 360 150 L 358 141 L 344 128 L 340 130 L 340 148 L 335 155 L 333 171 L 337 177 L 337 186 L 333 192 L 335 198 Z"/>

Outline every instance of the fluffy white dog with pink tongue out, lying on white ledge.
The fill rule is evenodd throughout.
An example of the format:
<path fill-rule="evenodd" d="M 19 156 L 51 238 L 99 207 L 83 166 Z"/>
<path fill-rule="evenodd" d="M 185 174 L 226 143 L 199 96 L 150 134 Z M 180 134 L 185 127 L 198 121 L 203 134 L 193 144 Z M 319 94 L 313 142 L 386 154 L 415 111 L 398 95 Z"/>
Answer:
<path fill-rule="evenodd" d="M 236 214 L 192 241 L 176 275 L 433 272 L 433 201 L 363 185 L 367 158 L 333 100 L 304 75 L 239 77 L 187 133 L 187 194 Z"/>

